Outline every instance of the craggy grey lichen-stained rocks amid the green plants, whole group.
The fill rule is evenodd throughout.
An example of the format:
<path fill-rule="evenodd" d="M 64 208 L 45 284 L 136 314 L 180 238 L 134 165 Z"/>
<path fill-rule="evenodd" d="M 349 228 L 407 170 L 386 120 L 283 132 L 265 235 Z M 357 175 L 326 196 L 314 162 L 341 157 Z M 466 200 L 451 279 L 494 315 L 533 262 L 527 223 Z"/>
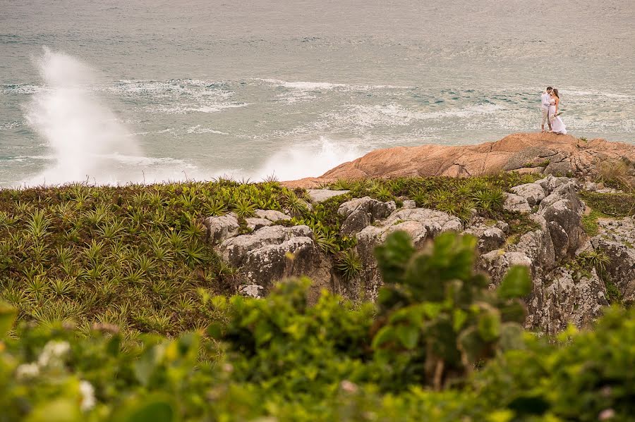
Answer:
<path fill-rule="evenodd" d="M 597 189 L 595 185 L 587 185 Z M 528 266 L 533 292 L 526 298 L 526 326 L 556 333 L 568 323 L 583 326 L 599 316 L 610 296 L 635 299 L 635 225 L 631 218 L 603 219 L 600 232 L 589 238 L 581 220 L 587 211 L 579 197 L 576 178 L 548 175 L 506 193 L 504 208 L 524 213 L 532 230 L 511 235 L 509 224 L 474 215 L 469 221 L 434 209 L 417 208 L 404 200 L 361 197 L 339 205 L 341 232 L 355 237 L 354 251 L 360 271 L 345 278 L 333 256 L 322 252 L 315 233 L 306 225 L 292 225 L 291 217 L 277 211 L 256 211 L 246 224 L 252 232 L 239 234 L 235 215 L 207 218 L 208 238 L 219 255 L 238 268 L 239 290 L 250 296 L 267 294 L 285 277 L 308 275 L 313 297 L 327 288 L 349 299 L 375 299 L 382 284 L 373 249 L 389 233 L 407 232 L 416 247 L 449 230 L 478 238 L 478 266 L 490 275 L 492 287 L 512 265 Z M 313 201 L 346 192 L 313 190 Z M 609 290 L 617 290 L 617 292 Z"/>

